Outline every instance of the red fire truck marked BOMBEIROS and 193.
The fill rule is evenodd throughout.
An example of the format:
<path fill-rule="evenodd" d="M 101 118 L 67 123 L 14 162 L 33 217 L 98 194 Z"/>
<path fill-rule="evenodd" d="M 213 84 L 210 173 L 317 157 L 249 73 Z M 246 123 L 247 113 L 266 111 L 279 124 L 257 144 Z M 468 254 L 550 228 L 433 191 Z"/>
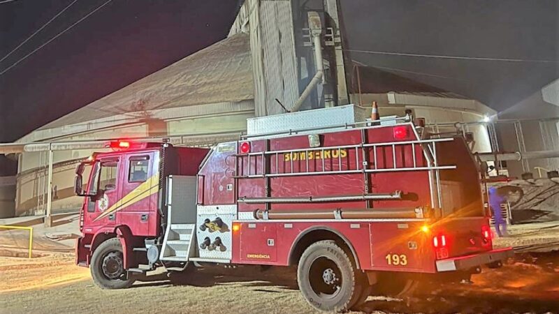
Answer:
<path fill-rule="evenodd" d="M 259 133 L 212 149 L 114 142 L 76 170 L 76 263 L 129 287 L 157 267 L 296 266 L 323 311 L 500 267 L 464 137 L 391 121 Z M 82 175 L 90 167 L 87 182 Z"/>

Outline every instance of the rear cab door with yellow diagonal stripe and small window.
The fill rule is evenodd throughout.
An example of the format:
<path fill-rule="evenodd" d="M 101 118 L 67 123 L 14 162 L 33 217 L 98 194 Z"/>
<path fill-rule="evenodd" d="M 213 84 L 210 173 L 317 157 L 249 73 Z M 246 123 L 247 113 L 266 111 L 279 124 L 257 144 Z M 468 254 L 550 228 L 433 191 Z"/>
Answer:
<path fill-rule="evenodd" d="M 126 154 L 125 158 L 119 225 L 129 226 L 134 235 L 156 235 L 159 171 L 153 167 L 154 153 Z"/>

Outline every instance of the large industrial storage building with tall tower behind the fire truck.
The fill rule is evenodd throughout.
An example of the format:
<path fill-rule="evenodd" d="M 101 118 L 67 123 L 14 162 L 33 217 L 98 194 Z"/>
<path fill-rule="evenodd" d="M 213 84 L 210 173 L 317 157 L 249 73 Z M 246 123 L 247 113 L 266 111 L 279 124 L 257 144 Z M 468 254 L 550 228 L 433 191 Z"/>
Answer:
<path fill-rule="evenodd" d="M 206 146 L 238 139 L 246 130 L 247 118 L 298 107 L 311 110 L 349 103 L 370 107 L 376 101 L 382 116 L 412 110 L 414 117 L 426 119 L 433 132 L 455 131 L 458 123 L 474 133 L 474 151 L 492 151 L 497 143 L 518 150 L 514 147 L 518 141 L 511 142 L 506 127 L 487 128 L 488 117 L 495 119 L 496 112 L 483 103 L 352 61 L 342 50 L 344 29 L 337 1 L 313 2 L 321 6 L 319 43 L 313 42 L 308 12 L 293 4 L 298 1 L 247 0 L 224 40 L 52 121 L 18 142 L 168 138 L 175 145 Z M 321 64 L 315 62 L 317 45 Z M 556 91 L 557 85 L 551 90 Z M 528 122 L 521 126 L 526 130 Z M 558 128 L 557 121 L 546 122 L 544 127 L 553 133 L 552 126 Z M 519 134 L 517 127 L 514 135 Z M 558 149 L 559 139 L 550 136 L 542 148 L 530 146 L 533 141 L 526 136 L 525 150 Z M 44 214 L 49 194 L 53 213 L 78 209 L 82 198 L 73 197 L 75 163 L 91 153 L 92 149 L 55 151 L 52 185 L 48 151 L 13 154 L 18 161 L 15 214 Z M 542 167 L 557 169 L 558 165 L 551 164 L 555 160 L 547 158 Z M 520 176 L 534 165 L 511 163 L 509 174 Z"/>

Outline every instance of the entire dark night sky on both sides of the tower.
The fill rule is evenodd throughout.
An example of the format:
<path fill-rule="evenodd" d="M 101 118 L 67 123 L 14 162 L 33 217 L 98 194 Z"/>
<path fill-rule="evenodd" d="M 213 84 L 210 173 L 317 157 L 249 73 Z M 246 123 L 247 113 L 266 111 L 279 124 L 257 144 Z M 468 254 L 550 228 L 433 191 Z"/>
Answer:
<path fill-rule="evenodd" d="M 72 0 L 0 3 L 0 58 Z M 0 62 L 0 72 L 106 0 L 78 0 Z M 113 0 L 0 75 L 0 142 L 226 36 L 239 0 Z M 559 60 L 558 0 L 342 0 L 350 50 Z M 502 110 L 559 77 L 557 62 L 350 52 L 351 58 Z"/>

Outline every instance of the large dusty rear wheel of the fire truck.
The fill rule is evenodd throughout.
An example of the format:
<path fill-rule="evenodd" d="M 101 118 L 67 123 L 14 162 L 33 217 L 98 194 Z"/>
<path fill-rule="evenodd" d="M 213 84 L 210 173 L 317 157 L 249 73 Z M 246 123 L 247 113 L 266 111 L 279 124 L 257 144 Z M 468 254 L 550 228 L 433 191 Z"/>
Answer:
<path fill-rule="evenodd" d="M 335 241 L 311 244 L 299 260 L 297 282 L 303 297 L 320 311 L 344 312 L 365 288 L 347 253 Z"/>

